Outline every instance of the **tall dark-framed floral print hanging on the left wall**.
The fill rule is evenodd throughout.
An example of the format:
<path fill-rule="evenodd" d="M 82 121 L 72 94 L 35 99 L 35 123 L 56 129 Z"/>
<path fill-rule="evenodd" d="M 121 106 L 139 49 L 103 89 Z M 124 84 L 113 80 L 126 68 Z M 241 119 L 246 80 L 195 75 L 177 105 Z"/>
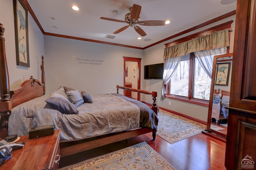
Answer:
<path fill-rule="evenodd" d="M 30 67 L 28 51 L 28 9 L 22 0 L 13 0 L 16 64 Z"/>

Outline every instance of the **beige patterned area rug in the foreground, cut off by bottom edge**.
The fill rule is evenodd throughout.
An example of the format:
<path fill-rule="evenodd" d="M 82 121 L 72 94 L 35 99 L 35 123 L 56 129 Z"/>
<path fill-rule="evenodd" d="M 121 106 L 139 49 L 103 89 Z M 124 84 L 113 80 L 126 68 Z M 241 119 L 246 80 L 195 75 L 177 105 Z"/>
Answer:
<path fill-rule="evenodd" d="M 175 170 L 146 142 L 60 170 Z"/>

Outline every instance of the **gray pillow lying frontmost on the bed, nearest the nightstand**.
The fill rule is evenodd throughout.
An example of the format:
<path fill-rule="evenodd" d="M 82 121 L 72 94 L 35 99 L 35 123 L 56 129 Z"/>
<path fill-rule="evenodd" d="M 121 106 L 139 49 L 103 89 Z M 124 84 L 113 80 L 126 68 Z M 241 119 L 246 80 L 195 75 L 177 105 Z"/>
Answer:
<path fill-rule="evenodd" d="M 72 104 L 66 99 L 63 98 L 57 98 L 57 97 L 50 97 L 45 100 L 47 104 L 50 105 L 52 109 L 56 109 L 60 111 L 60 113 L 63 114 L 78 114 L 78 110 Z"/>

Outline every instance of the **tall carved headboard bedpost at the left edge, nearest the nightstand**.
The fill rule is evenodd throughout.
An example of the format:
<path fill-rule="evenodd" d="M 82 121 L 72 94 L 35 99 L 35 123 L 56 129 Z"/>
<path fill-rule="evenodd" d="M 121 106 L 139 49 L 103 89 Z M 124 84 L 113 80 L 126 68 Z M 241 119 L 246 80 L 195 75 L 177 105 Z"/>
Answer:
<path fill-rule="evenodd" d="M 8 119 L 12 103 L 10 101 L 10 83 L 6 62 L 4 27 L 0 23 L 0 137 L 8 136 Z"/>

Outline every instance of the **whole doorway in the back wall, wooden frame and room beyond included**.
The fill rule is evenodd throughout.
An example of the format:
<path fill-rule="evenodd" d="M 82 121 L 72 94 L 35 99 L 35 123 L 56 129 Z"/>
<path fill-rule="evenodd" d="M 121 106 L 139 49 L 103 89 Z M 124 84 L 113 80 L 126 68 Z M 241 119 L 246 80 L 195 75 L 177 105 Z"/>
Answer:
<path fill-rule="evenodd" d="M 124 57 L 124 87 L 140 89 L 141 59 Z M 140 93 L 124 90 L 124 96 L 140 100 Z"/>

